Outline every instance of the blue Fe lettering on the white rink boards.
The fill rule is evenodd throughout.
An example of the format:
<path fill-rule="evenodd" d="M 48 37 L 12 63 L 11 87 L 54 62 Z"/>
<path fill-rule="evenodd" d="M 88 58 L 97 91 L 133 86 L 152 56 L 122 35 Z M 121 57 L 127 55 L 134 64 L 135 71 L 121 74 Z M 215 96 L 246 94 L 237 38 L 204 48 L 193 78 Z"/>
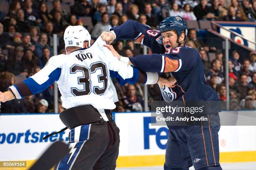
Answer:
<path fill-rule="evenodd" d="M 155 117 L 143 117 L 143 127 L 144 127 L 144 149 L 150 149 L 150 141 L 149 138 L 151 136 L 155 136 L 156 145 L 162 149 L 166 149 L 166 142 L 168 139 L 168 128 L 160 127 L 159 129 L 150 127 L 151 123 L 155 123 Z M 158 126 L 155 126 L 158 127 Z"/>

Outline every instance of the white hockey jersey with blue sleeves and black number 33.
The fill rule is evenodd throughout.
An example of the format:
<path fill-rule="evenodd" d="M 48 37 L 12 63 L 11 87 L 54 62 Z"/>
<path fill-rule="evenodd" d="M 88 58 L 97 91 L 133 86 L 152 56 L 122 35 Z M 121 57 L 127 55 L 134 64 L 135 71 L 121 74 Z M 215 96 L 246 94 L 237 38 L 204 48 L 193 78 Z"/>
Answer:
<path fill-rule="evenodd" d="M 10 87 L 17 99 L 36 94 L 57 82 L 62 106 L 66 109 L 91 104 L 97 109 L 115 109 L 118 96 L 110 77 L 123 85 L 138 81 L 138 69 L 120 62 L 104 47 L 99 37 L 90 48 L 69 55 L 53 56 L 44 69 Z M 146 73 L 145 84 L 155 84 L 158 74 Z M 157 76 L 156 76 L 157 75 Z"/>

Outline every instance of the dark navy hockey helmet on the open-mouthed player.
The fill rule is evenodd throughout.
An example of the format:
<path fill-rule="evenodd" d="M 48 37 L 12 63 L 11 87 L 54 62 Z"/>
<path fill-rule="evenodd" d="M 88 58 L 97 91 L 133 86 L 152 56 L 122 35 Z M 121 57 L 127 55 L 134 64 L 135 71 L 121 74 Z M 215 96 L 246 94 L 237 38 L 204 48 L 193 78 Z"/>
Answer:
<path fill-rule="evenodd" d="M 187 37 L 187 24 L 179 15 L 164 18 L 158 29 L 161 33 L 169 30 L 175 30 L 178 36 L 180 36 L 182 30 L 184 30 L 185 37 Z"/>

